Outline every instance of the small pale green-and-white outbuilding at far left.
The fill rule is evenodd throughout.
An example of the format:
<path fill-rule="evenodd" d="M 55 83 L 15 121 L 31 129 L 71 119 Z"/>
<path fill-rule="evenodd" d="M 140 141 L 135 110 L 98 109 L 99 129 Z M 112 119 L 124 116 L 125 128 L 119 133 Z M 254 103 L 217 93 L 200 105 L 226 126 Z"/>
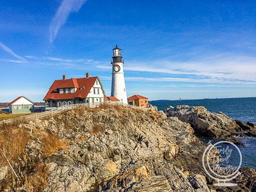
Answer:
<path fill-rule="evenodd" d="M 8 103 L 9 113 L 32 113 L 34 112 L 35 103 L 24 96 L 17 97 L 12 102 Z"/>

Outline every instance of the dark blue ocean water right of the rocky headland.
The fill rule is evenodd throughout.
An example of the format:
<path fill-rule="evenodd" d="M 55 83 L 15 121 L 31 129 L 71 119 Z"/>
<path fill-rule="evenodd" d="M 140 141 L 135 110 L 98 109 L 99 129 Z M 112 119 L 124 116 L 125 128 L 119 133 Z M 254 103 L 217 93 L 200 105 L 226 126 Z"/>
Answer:
<path fill-rule="evenodd" d="M 158 110 L 164 111 L 168 106 L 176 107 L 177 105 L 204 106 L 212 113 L 223 112 L 232 119 L 238 119 L 244 122 L 256 124 L 256 97 L 247 98 L 228 98 L 228 99 L 195 99 L 195 100 L 157 100 L 150 101 L 152 105 L 157 106 Z M 238 146 L 242 154 L 241 166 L 253 167 L 256 169 L 256 138 L 239 138 L 244 147 Z M 205 143 L 209 139 L 202 139 Z M 238 166 L 239 156 L 234 156 L 229 163 L 232 166 Z"/>

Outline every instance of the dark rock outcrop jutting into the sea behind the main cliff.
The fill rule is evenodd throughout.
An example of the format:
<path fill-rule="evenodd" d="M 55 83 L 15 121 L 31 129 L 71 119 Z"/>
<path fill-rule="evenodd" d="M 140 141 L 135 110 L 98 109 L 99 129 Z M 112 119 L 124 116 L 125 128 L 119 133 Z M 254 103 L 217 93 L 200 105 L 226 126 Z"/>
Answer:
<path fill-rule="evenodd" d="M 204 107 L 189 107 L 188 105 L 169 106 L 167 116 L 176 116 L 179 120 L 189 123 L 195 134 L 222 138 L 238 145 L 243 145 L 233 136 L 256 136 L 256 129 L 241 121 L 234 121 L 224 113 L 211 113 Z"/>

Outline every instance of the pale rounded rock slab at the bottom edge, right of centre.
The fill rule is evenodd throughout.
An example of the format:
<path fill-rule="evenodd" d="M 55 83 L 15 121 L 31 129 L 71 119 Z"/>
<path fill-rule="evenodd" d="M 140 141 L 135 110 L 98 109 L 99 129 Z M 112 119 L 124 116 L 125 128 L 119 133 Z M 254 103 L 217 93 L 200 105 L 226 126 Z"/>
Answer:
<path fill-rule="evenodd" d="M 148 177 L 137 181 L 129 192 L 172 192 L 168 180 L 164 176 Z"/>

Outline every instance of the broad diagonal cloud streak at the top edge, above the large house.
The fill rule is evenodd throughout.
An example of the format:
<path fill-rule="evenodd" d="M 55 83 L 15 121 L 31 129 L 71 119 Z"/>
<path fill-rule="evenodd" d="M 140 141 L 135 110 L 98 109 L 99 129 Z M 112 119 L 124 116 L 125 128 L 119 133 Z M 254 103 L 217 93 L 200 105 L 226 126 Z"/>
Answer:
<path fill-rule="evenodd" d="M 61 26 L 65 24 L 67 17 L 70 15 L 70 13 L 78 12 L 81 6 L 83 6 L 86 1 L 87 0 L 63 0 L 62 1 L 61 6 L 59 6 L 49 26 L 49 32 L 50 32 L 49 42 L 51 44 L 55 40 L 56 35 L 59 29 L 61 28 Z"/>

